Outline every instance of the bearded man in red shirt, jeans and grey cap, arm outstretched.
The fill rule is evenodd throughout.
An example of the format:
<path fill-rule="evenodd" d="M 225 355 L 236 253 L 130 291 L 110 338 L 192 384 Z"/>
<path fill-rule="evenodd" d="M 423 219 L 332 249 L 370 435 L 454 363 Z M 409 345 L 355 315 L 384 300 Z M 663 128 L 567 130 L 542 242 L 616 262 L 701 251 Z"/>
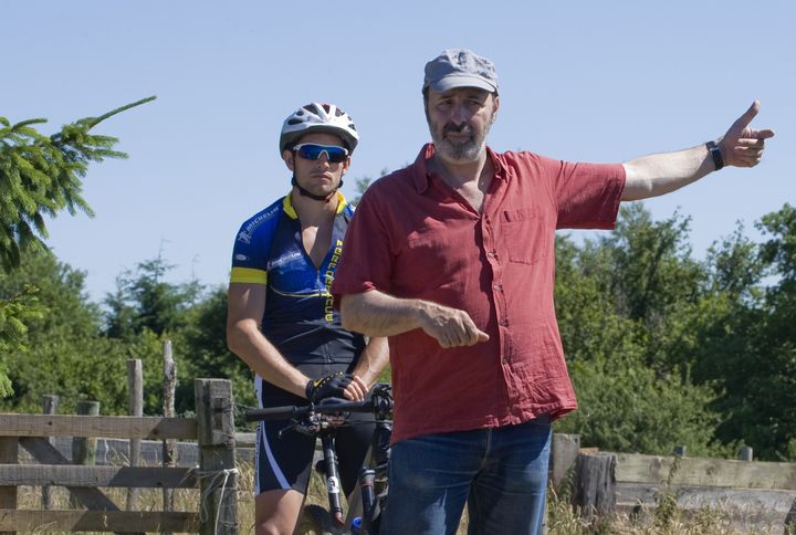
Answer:
<path fill-rule="evenodd" d="M 576 408 L 553 306 L 554 232 L 612 229 L 619 202 L 760 161 L 772 130 L 621 165 L 486 147 L 492 62 L 447 50 L 426 65 L 432 144 L 376 181 L 346 234 L 332 292 L 343 325 L 389 336 L 395 394 L 388 534 L 538 533 L 551 420 Z"/>

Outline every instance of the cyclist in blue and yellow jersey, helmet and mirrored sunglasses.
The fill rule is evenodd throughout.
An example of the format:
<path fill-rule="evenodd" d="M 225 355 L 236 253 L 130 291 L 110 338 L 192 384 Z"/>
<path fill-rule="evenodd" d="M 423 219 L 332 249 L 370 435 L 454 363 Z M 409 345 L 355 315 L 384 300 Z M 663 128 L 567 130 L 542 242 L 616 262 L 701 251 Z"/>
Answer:
<path fill-rule="evenodd" d="M 362 400 L 387 363 L 386 339 L 366 343 L 343 329 L 328 292 L 353 214 L 339 187 L 358 140 L 352 118 L 333 104 L 311 103 L 291 114 L 280 153 L 293 174 L 292 189 L 238 232 L 227 343 L 255 373 L 261 407 L 328 397 Z M 336 437 L 346 494 L 373 432 L 367 423 Z M 297 432 L 280 438 L 287 424 L 258 426 L 258 534 L 293 533 L 306 494 L 315 438 Z"/>

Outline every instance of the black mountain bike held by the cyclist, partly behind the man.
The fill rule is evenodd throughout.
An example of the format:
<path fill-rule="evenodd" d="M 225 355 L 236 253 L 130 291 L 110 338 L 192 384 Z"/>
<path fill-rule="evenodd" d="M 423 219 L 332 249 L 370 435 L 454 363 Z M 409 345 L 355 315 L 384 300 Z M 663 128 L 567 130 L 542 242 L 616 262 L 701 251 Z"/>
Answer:
<path fill-rule="evenodd" d="M 347 424 L 352 412 L 373 412 L 376 427 L 370 447 L 359 470 L 357 489 L 354 490 L 348 514 L 343 515 L 341 484 L 337 466 L 337 452 L 334 436 L 336 429 Z M 247 421 L 291 420 L 279 433 L 300 432 L 321 438 L 323 459 L 315 465 L 326 479 L 326 492 L 329 513 L 335 528 L 352 535 L 378 535 L 381 511 L 387 501 L 387 463 L 389 461 L 389 441 L 392 432 L 392 388 L 378 382 L 365 401 L 345 401 L 336 398 L 317 405 L 272 407 L 245 411 Z M 356 500 L 356 499 L 359 500 Z"/>

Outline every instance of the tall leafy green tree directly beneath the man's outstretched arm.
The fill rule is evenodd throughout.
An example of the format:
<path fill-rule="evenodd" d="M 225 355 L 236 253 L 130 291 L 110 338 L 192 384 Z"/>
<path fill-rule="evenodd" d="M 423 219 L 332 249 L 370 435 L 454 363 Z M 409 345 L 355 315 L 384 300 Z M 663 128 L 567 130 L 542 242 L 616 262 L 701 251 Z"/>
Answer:
<path fill-rule="evenodd" d="M 726 451 L 713 443 L 713 391 L 689 374 L 708 273 L 687 243 L 687 220 L 653 222 L 636 204 L 596 242 L 556 240 L 556 310 L 580 407 L 558 430 L 614 451 Z"/>

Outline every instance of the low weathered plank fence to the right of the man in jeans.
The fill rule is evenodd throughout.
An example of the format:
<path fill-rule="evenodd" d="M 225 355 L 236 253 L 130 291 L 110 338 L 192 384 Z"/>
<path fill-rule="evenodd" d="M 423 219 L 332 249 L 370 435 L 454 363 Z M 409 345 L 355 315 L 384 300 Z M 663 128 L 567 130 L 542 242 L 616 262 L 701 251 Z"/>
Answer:
<path fill-rule="evenodd" d="M 710 507 L 796 533 L 796 463 L 752 461 L 750 450 L 746 461 L 598 452 L 580 449 L 574 436 L 554 438 L 553 457 L 554 484 L 574 469 L 573 502 L 586 517 L 638 512 L 668 499 L 685 511 Z"/>

